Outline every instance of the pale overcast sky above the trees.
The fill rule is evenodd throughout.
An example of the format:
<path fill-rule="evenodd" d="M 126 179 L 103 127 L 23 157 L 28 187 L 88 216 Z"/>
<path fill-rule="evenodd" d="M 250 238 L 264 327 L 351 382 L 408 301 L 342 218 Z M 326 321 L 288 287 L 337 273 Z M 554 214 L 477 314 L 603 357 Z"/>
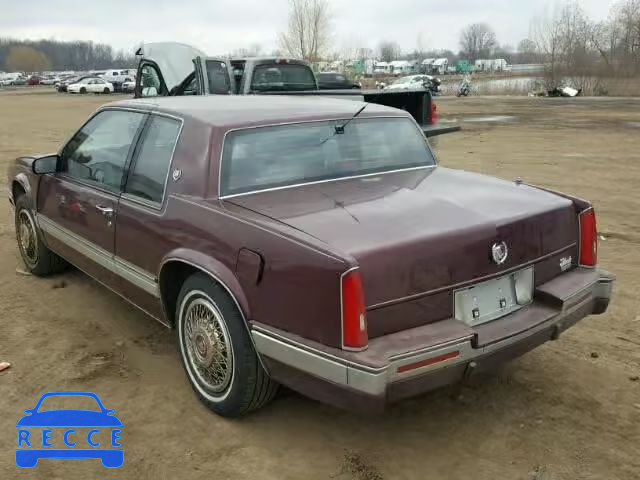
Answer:
<path fill-rule="evenodd" d="M 420 36 L 427 49 L 457 51 L 460 29 L 487 22 L 500 44 L 516 46 L 531 18 L 554 3 L 545 0 L 329 0 L 336 50 L 396 40 L 413 50 Z M 581 0 L 594 19 L 604 19 L 613 0 Z M 117 49 L 141 42 L 179 41 L 208 54 L 253 43 L 277 46 L 287 21 L 287 0 L 0 0 L 0 36 L 93 40 Z"/>

